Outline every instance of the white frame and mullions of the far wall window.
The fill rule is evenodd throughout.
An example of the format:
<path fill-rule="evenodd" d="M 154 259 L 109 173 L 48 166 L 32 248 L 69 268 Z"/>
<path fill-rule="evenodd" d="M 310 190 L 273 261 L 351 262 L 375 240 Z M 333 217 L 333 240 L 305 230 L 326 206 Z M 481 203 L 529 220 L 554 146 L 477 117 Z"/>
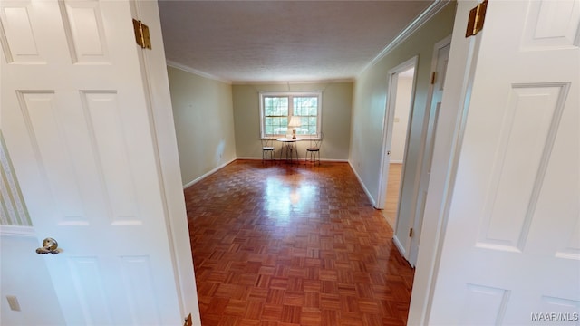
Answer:
<path fill-rule="evenodd" d="M 314 135 L 297 135 L 300 139 L 316 139 L 322 128 L 323 116 L 323 93 L 322 91 L 260 91 L 260 137 L 262 139 L 273 139 L 278 137 L 285 137 L 290 134 L 288 130 L 284 134 L 268 134 L 266 135 L 266 116 L 264 109 L 264 99 L 269 96 L 287 97 L 288 98 L 288 120 L 294 114 L 295 97 L 317 97 L 318 109 L 316 110 L 316 133 Z"/>

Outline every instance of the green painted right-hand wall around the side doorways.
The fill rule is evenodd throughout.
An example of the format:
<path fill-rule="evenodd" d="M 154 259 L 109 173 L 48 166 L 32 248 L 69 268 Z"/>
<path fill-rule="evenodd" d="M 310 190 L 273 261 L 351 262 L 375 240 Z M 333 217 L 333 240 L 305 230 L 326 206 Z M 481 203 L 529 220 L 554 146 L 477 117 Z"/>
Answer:
<path fill-rule="evenodd" d="M 430 88 L 430 68 L 435 43 L 449 36 L 453 30 L 456 3 L 450 3 L 435 14 L 419 30 L 411 34 L 403 43 L 379 62 L 363 72 L 354 85 L 353 124 L 349 161 L 362 180 L 363 186 L 378 200 L 379 176 L 381 173 L 382 127 L 388 87 L 388 72 L 418 56 L 416 67 L 415 98 L 411 115 L 410 139 L 406 157 L 405 181 L 401 193 L 401 216 L 414 213 L 411 202 L 413 192 L 417 191 L 421 130 L 426 122 Z M 408 230 L 406 230 L 408 232 Z M 401 235 L 402 236 L 402 235 Z"/>

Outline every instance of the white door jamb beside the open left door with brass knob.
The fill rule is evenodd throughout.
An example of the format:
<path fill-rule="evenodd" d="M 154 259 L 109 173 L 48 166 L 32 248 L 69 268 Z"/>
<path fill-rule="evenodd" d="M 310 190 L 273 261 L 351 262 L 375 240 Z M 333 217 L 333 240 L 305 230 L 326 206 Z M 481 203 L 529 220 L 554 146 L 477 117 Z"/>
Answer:
<path fill-rule="evenodd" d="M 178 284 L 179 309 L 182 317 L 191 314 L 193 324 L 201 324 L 157 1 L 131 1 L 131 14 L 133 18 L 150 24 L 150 39 L 155 44 L 150 50 L 140 51 L 139 56 L 149 107 L 151 136 L 163 189 L 161 197 L 167 216 L 165 223 L 169 231 L 171 262 Z"/>

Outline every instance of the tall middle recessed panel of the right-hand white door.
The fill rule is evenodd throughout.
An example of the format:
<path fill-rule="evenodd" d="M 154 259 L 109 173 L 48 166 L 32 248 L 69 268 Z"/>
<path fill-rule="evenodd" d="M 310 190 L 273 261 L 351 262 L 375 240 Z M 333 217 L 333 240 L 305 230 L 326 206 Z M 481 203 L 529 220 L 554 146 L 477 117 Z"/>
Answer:
<path fill-rule="evenodd" d="M 486 200 L 480 207 L 483 225 L 478 246 L 524 249 L 566 94 L 566 84 L 516 85 L 502 108 L 500 126 L 493 130 L 494 146 L 488 152 L 471 149 L 490 158 L 478 167 L 489 175 Z"/>

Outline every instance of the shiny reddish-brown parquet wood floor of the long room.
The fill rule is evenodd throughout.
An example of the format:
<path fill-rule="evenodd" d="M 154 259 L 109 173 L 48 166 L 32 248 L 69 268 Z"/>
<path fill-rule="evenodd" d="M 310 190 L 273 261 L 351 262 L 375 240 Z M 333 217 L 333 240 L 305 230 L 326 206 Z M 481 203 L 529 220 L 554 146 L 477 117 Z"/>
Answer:
<path fill-rule="evenodd" d="M 347 163 L 237 160 L 185 190 L 206 325 L 404 325 L 413 270 Z"/>

